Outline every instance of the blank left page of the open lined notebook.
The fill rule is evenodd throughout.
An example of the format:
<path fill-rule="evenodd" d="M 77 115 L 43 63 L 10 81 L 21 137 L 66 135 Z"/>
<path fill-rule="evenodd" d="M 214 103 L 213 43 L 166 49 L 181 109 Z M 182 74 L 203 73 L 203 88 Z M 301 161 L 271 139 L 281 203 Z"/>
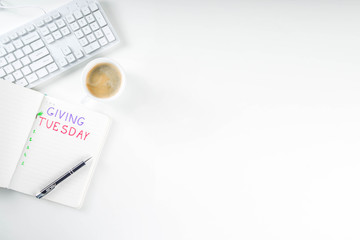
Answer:
<path fill-rule="evenodd" d="M 0 187 L 8 187 L 44 95 L 0 79 Z"/>

